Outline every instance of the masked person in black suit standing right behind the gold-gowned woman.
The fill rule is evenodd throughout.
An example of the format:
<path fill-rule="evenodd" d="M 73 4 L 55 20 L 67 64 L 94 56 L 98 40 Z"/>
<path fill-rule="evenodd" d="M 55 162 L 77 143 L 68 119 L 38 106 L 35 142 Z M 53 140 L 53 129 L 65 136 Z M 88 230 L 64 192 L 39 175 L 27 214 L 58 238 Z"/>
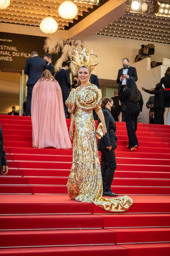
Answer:
<path fill-rule="evenodd" d="M 115 148 L 117 148 L 116 141 L 116 124 L 113 116 L 111 115 L 111 109 L 114 108 L 113 99 L 105 97 L 102 99 L 102 111 L 105 118 L 105 124 L 107 133 L 101 139 L 98 140 L 98 150 L 101 155 L 101 172 L 102 172 L 102 184 L 103 195 L 117 196 L 111 190 L 111 184 L 113 181 L 114 172 L 116 170 L 116 156 Z M 100 120 L 98 120 L 98 124 Z"/>

